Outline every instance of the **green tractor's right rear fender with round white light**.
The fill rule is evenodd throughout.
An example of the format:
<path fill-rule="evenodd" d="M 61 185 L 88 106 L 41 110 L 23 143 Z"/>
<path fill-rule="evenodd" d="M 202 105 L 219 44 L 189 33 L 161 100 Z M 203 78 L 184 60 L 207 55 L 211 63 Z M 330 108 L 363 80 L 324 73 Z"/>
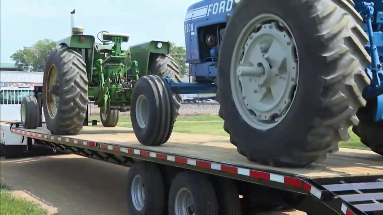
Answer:
<path fill-rule="evenodd" d="M 152 54 L 169 54 L 169 49 L 169 42 L 154 40 L 131 46 L 131 60 L 138 63 L 139 77 L 147 75 L 149 58 Z"/>

